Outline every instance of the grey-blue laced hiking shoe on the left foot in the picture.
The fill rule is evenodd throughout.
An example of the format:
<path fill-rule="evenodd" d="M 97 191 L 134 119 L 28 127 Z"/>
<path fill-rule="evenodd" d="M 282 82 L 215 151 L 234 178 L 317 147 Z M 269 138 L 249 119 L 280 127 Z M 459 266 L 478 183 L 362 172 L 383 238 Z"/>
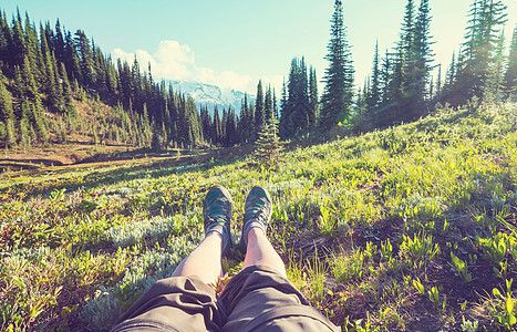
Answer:
<path fill-rule="evenodd" d="M 205 237 L 217 231 L 223 237 L 223 255 L 229 253 L 234 245 L 230 231 L 232 206 L 230 193 L 219 185 L 208 189 L 203 201 Z"/>

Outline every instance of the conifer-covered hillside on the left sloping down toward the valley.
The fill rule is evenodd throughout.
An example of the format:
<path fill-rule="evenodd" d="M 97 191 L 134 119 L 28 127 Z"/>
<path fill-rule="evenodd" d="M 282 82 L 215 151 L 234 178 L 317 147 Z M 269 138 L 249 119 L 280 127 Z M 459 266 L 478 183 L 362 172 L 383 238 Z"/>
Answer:
<path fill-rule="evenodd" d="M 244 134 L 235 110 L 208 114 L 192 97 L 155 82 L 138 62 L 114 63 L 84 31 L 49 23 L 37 30 L 27 14 L 0 15 L 0 142 L 6 147 L 94 143 L 179 147 L 205 142 L 231 145 Z M 95 110 L 82 116 L 84 103 Z M 239 128 L 239 131 L 238 131 Z M 228 133 L 228 134 L 226 134 Z M 241 135 L 240 135 L 241 134 Z"/>

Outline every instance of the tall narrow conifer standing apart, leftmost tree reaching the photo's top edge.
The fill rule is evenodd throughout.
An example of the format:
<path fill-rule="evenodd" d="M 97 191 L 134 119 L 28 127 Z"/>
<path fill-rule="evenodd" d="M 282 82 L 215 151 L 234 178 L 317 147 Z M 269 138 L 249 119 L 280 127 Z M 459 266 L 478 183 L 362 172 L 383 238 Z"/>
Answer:
<path fill-rule="evenodd" d="M 334 13 L 331 20 L 331 39 L 325 59 L 329 68 L 325 70 L 325 87 L 321 97 L 320 128 L 325 131 L 348 118 L 353 103 L 353 66 L 350 45 L 347 41 L 341 0 L 335 0 Z"/>

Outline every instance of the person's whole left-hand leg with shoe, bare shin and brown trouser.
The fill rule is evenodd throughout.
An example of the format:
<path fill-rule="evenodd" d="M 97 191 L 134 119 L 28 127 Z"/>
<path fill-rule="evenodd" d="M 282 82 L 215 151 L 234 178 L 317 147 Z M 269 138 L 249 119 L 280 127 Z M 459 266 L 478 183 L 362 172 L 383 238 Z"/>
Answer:
<path fill-rule="evenodd" d="M 112 331 L 219 331 L 226 309 L 210 283 L 221 276 L 220 257 L 232 246 L 232 201 L 228 190 L 211 187 L 204 200 L 205 239 L 174 270 L 157 281 L 118 318 Z"/>

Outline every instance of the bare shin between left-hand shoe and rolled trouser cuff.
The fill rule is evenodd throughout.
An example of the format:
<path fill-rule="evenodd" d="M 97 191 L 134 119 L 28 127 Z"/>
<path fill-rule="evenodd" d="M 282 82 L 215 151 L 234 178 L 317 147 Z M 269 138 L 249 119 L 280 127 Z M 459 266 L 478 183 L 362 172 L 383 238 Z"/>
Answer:
<path fill-rule="evenodd" d="M 223 277 L 220 264 L 223 238 L 218 232 L 210 232 L 174 270 L 172 277 L 197 276 L 207 284 L 215 284 L 217 277 Z"/>

